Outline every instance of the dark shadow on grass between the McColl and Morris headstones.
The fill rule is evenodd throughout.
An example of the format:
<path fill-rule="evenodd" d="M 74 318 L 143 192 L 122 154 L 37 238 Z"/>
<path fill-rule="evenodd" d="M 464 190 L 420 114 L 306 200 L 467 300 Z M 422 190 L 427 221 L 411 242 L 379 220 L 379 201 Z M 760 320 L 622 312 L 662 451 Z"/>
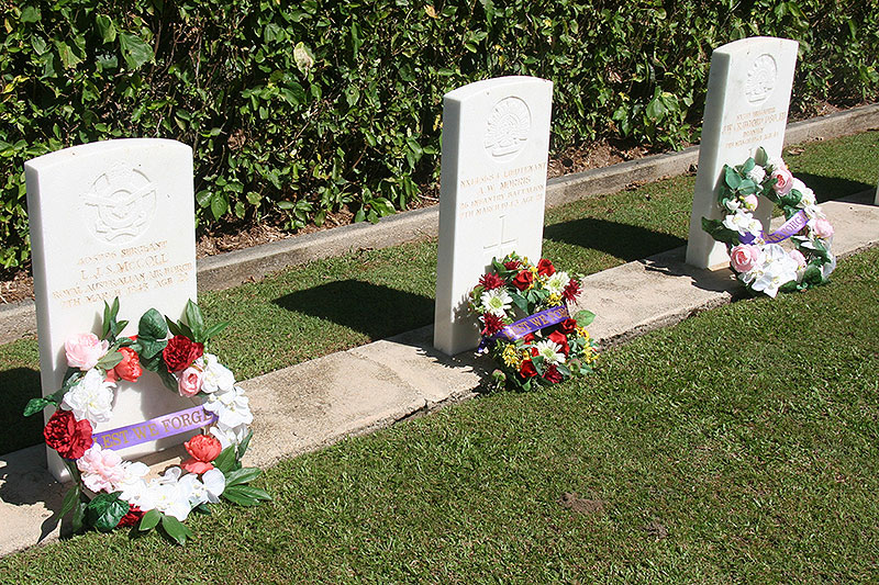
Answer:
<path fill-rule="evenodd" d="M 348 327 L 374 340 L 433 320 L 433 299 L 352 279 L 286 294 L 272 303 Z"/>

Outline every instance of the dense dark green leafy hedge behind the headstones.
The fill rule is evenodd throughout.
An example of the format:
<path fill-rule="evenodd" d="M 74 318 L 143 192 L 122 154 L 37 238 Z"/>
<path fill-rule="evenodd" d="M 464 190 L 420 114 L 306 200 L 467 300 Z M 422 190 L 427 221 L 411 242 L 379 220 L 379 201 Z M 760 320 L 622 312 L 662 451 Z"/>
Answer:
<path fill-rule="evenodd" d="M 29 257 L 24 160 L 122 136 L 196 153 L 199 221 L 377 220 L 438 172 L 442 95 L 555 82 L 553 148 L 698 139 L 711 50 L 800 41 L 793 111 L 875 100 L 875 1 L 2 2 L 0 263 Z"/>

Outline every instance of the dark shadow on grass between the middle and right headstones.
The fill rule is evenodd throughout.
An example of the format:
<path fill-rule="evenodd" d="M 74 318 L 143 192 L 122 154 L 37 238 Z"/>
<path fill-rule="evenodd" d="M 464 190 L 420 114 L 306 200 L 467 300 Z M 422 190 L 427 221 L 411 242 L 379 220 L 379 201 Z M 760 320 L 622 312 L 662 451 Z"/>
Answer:
<path fill-rule="evenodd" d="M 630 262 L 687 244 L 686 239 L 635 225 L 585 217 L 548 225 L 544 238 L 591 248 Z"/>

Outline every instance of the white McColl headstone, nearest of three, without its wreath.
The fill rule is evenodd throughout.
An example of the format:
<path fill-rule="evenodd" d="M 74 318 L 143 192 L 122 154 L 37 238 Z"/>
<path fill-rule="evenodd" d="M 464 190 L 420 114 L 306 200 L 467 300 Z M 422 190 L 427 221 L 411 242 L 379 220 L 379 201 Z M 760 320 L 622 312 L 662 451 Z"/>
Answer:
<path fill-rule="evenodd" d="M 87 144 L 25 164 L 34 295 L 43 395 L 60 389 L 65 340 L 100 336 L 103 302 L 120 299 L 123 335 L 155 307 L 174 319 L 196 300 L 192 149 L 175 140 L 134 138 Z M 118 428 L 191 407 L 144 371 L 119 382 L 113 417 L 94 431 Z M 46 409 L 46 418 L 52 408 Z M 151 441 L 120 451 L 125 458 L 179 443 Z M 67 476 L 48 450 L 48 465 Z"/>

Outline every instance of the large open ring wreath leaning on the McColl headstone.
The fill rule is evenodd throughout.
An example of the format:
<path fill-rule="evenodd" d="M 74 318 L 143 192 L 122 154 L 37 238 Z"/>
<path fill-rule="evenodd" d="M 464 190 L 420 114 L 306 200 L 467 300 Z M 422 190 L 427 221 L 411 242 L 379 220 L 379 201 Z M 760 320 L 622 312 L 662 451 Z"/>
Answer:
<path fill-rule="evenodd" d="M 104 303 L 100 339 L 90 333 L 67 339 L 64 385 L 51 396 L 31 400 L 24 410 L 31 416 L 49 405 L 56 408 L 43 435 L 75 482 L 60 516 L 73 510 L 75 532 L 87 526 L 100 531 L 133 527 L 138 532 L 160 527 L 183 544 L 192 532 L 182 521 L 192 510 L 210 513 L 207 505 L 221 496 L 245 506 L 271 499 L 247 485 L 260 471 L 241 464 L 252 436 L 248 398 L 232 372 L 204 352 L 204 344 L 227 324 L 205 327 L 198 305 L 189 301 L 186 322 L 174 323 L 151 308 L 141 317 L 136 336 L 119 337 L 129 322 L 118 322 L 118 314 L 119 299 L 112 306 Z M 173 337 L 166 340 L 168 331 Z M 110 420 L 115 382 L 136 382 L 144 369 L 181 396 L 201 400 L 211 415 L 197 420 L 209 430 L 183 443 L 191 458 L 149 481 L 144 463 L 123 460 L 92 437 L 94 425 Z"/>

